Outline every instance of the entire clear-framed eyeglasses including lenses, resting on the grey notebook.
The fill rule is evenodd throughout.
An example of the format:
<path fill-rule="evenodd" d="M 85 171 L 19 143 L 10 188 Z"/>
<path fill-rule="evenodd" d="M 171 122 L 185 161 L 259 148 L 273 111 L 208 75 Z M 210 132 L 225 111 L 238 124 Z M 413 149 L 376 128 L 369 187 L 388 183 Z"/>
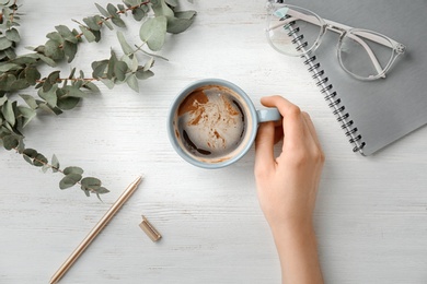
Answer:
<path fill-rule="evenodd" d="M 324 20 L 303 8 L 274 5 L 270 0 L 267 10 L 266 34 L 277 51 L 288 56 L 305 56 L 320 46 L 330 29 L 339 34 L 339 64 L 359 80 L 385 78 L 395 59 L 405 51 L 404 45 L 388 36 Z"/>

